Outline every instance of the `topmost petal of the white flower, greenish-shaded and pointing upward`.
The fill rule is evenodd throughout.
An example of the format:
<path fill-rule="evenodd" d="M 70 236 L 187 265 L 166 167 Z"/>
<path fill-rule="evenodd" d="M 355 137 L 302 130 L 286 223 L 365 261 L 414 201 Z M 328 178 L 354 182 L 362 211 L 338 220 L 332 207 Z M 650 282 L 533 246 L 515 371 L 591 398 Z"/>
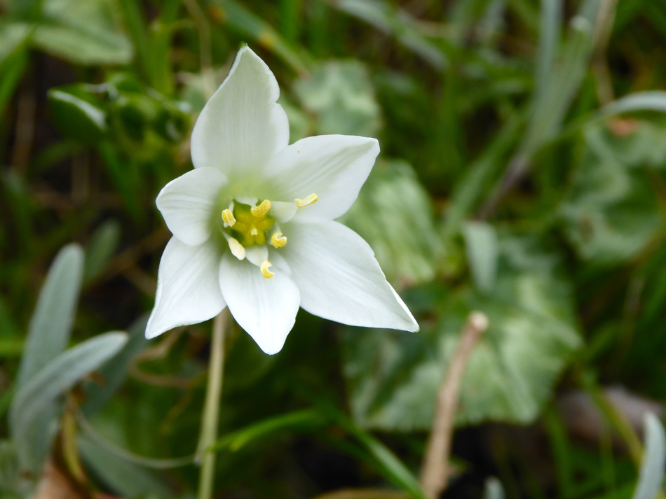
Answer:
<path fill-rule="evenodd" d="M 194 125 L 194 167 L 217 168 L 234 187 L 251 188 L 252 178 L 289 143 L 287 114 L 276 104 L 279 95 L 269 66 L 247 46 L 241 48 Z"/>

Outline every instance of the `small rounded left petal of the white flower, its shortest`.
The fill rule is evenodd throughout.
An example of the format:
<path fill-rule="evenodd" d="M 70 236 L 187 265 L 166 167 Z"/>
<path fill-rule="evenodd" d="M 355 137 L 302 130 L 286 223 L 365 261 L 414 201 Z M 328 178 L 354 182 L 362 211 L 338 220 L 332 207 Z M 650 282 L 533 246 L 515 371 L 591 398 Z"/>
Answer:
<path fill-rule="evenodd" d="M 190 246 L 208 241 L 219 192 L 225 184 L 219 170 L 198 168 L 164 186 L 156 204 L 175 237 Z"/>

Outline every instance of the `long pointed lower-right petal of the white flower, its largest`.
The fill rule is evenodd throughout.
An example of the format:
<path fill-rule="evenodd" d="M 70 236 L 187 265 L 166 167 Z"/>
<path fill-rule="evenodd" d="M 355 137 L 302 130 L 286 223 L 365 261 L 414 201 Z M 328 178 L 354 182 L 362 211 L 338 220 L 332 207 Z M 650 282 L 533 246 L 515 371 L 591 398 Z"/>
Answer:
<path fill-rule="evenodd" d="M 339 323 L 418 331 L 370 246 L 341 223 L 290 223 L 281 251 L 301 291 L 301 307 Z"/>

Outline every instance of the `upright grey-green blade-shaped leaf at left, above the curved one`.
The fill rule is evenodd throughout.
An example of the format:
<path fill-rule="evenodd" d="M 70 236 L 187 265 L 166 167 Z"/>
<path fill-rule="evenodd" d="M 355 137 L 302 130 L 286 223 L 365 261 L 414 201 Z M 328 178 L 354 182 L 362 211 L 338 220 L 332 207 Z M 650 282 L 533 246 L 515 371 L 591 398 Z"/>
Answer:
<path fill-rule="evenodd" d="M 25 385 L 67 347 L 81 292 L 82 272 L 81 246 L 64 246 L 48 271 L 30 319 L 17 386 Z"/>

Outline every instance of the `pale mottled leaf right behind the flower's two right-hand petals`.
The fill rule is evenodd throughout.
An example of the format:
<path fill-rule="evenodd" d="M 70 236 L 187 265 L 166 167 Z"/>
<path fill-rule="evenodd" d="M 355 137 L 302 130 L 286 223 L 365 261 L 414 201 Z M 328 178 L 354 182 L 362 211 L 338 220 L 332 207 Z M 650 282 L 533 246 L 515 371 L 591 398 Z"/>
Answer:
<path fill-rule="evenodd" d="M 442 251 L 428 192 L 402 161 L 375 167 L 344 217 L 363 237 L 389 281 L 416 283 L 435 275 Z"/>

